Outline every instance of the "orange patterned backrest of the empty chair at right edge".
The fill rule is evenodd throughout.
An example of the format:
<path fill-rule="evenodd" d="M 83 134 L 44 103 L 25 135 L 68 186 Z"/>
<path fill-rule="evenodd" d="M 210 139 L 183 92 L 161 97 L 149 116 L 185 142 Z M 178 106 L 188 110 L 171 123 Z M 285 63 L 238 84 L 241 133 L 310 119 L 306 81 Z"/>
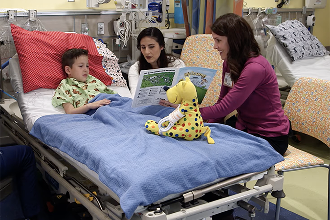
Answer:
<path fill-rule="evenodd" d="M 293 85 L 284 112 L 292 130 L 315 137 L 330 147 L 330 81 L 302 77 Z"/>

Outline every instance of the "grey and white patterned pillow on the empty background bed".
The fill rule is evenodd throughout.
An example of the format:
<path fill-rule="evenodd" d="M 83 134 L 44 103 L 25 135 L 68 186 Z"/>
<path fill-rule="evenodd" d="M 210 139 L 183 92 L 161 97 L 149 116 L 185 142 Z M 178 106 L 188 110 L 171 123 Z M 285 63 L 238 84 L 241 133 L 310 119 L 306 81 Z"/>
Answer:
<path fill-rule="evenodd" d="M 288 20 L 278 26 L 266 25 L 266 27 L 286 49 L 292 61 L 329 54 L 321 42 L 308 31 L 304 24 L 297 20 Z"/>

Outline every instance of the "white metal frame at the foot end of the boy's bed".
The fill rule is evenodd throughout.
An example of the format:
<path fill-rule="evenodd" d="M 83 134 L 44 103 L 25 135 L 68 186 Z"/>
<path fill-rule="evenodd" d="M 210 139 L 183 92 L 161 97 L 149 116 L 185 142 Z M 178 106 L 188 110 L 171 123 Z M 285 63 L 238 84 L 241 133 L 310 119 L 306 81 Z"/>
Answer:
<path fill-rule="evenodd" d="M 225 198 L 221 198 L 216 201 L 202 203 L 201 200 L 191 200 L 190 204 L 196 204 L 196 202 L 201 202 L 202 204 L 198 206 L 192 205 L 189 208 L 179 208 L 179 210 L 175 213 L 171 213 L 166 215 L 161 207 L 158 207 L 149 212 L 145 211 L 142 214 L 142 220 L 198 220 L 203 219 L 205 216 L 212 216 L 219 214 L 221 212 L 234 209 L 237 207 L 242 207 L 243 209 L 249 211 L 251 219 L 253 219 L 256 215 L 255 207 L 247 204 L 249 200 L 253 200 L 257 204 L 264 207 L 264 213 L 268 213 L 269 211 L 269 201 L 266 198 L 268 192 L 274 192 L 275 190 L 282 191 L 283 189 L 283 176 L 275 175 L 273 172 L 275 171 L 275 167 L 271 167 L 267 174 L 264 175 L 262 179 L 264 179 L 263 184 L 261 182 L 256 183 L 253 189 L 248 189 L 245 186 L 240 184 L 235 184 L 235 180 L 244 179 L 244 177 L 251 177 L 252 174 L 243 174 L 239 176 L 233 177 L 233 179 L 226 179 L 221 181 L 220 183 L 216 183 L 212 186 L 205 187 L 201 189 L 198 193 L 198 196 L 204 195 L 207 192 L 219 192 L 220 189 L 230 189 L 235 192 L 235 195 L 228 196 Z M 262 174 L 264 172 L 253 173 L 254 175 Z M 260 184 L 260 186 L 258 186 Z M 197 191 L 195 191 L 197 192 Z M 187 194 L 193 194 L 192 192 L 188 192 Z M 191 198 L 192 196 L 190 196 Z M 202 198 L 201 198 L 202 199 Z M 278 213 L 279 214 L 279 213 Z M 277 218 L 277 217 L 276 217 Z"/>

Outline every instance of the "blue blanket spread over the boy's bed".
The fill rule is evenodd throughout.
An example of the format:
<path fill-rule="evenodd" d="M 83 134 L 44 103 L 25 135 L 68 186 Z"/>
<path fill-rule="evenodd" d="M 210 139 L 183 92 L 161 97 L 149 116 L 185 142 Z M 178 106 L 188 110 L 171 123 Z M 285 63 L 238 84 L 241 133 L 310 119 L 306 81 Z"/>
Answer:
<path fill-rule="evenodd" d="M 30 134 L 95 171 L 129 219 L 138 205 L 283 160 L 264 139 L 221 124 L 206 124 L 215 144 L 204 135 L 187 141 L 151 134 L 145 122 L 159 121 L 173 108 L 131 108 L 132 99 L 118 94 L 99 94 L 92 101 L 103 98 L 110 105 L 88 114 L 43 116 Z"/>

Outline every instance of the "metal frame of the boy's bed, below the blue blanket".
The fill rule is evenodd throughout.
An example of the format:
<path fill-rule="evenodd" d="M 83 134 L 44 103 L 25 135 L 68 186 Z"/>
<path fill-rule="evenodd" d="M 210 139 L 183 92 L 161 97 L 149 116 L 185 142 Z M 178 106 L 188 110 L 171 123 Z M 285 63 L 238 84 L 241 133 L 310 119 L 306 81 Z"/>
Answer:
<path fill-rule="evenodd" d="M 78 167 L 71 166 L 44 143 L 28 134 L 22 118 L 10 109 L 13 105 L 15 105 L 13 99 L 5 99 L 4 103 L 0 104 L 2 126 L 16 143 L 32 147 L 38 168 L 43 171 L 44 179 L 56 193 L 66 194 L 66 192 L 69 192 L 70 199 L 76 198 L 79 200 L 95 220 L 127 219 L 121 210 L 119 198 L 100 180 L 88 176 L 86 172 L 83 173 L 83 175 L 88 176 L 92 183 L 97 185 L 99 194 L 96 196 L 77 180 L 82 177 L 79 172 L 75 171 L 76 169 L 79 171 Z M 76 173 L 76 175 L 71 176 L 72 173 Z M 263 177 L 257 181 L 253 189 L 246 188 L 245 184 L 244 186 L 237 184 L 240 181 L 249 181 L 251 177 L 257 175 Z M 234 176 L 211 186 L 187 192 L 177 198 L 151 204 L 144 211 L 133 215 L 132 219 L 199 220 L 239 206 L 247 210 L 250 218 L 253 219 L 256 215 L 256 209 L 247 202 L 250 199 L 253 200 L 264 207 L 264 213 L 268 213 L 269 202 L 266 196 L 269 192 L 275 197 L 277 197 L 276 195 L 283 195 L 283 182 L 283 176 L 275 174 L 275 166 L 273 166 L 264 172 Z M 199 199 L 205 193 L 221 193 L 224 189 L 230 189 L 237 194 L 208 203 Z M 83 194 L 89 194 L 89 197 L 92 197 L 93 200 L 90 201 Z"/>

